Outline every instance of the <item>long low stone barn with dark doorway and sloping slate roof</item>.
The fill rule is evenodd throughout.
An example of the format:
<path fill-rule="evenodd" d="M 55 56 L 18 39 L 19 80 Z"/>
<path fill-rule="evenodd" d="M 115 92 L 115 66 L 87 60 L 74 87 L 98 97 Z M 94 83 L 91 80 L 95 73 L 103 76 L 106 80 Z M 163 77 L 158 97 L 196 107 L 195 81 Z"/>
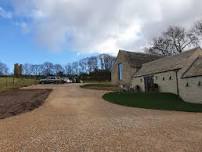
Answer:
<path fill-rule="evenodd" d="M 152 86 L 158 86 L 160 92 L 177 94 L 187 102 L 202 103 L 202 49 L 143 64 L 133 75 L 132 87 L 148 92 Z"/>

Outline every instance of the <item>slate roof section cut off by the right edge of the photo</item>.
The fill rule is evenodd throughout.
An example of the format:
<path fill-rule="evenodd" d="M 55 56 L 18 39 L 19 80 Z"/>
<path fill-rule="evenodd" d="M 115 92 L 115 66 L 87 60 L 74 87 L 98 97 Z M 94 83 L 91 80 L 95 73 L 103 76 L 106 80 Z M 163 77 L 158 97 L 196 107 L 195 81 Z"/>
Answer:
<path fill-rule="evenodd" d="M 190 69 L 183 75 L 184 78 L 195 76 L 202 76 L 202 56 L 199 56 Z"/>

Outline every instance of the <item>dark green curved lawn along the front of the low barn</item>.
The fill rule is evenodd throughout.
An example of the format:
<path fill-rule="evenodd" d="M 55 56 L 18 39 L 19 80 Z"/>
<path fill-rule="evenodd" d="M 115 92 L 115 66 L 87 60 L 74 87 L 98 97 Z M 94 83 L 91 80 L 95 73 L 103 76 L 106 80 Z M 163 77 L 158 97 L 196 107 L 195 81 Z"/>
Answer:
<path fill-rule="evenodd" d="M 177 95 L 169 93 L 122 93 L 111 92 L 103 95 L 109 102 L 145 109 L 202 112 L 202 104 L 186 103 Z"/>

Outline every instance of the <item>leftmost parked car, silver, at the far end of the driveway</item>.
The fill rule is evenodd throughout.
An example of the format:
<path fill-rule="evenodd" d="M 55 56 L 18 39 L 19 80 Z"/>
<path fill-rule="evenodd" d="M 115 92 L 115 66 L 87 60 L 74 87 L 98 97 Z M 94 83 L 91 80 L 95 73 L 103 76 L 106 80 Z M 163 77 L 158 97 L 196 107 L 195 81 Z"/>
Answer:
<path fill-rule="evenodd" d="M 40 84 L 63 84 L 65 81 L 60 77 L 49 76 L 39 81 Z"/>

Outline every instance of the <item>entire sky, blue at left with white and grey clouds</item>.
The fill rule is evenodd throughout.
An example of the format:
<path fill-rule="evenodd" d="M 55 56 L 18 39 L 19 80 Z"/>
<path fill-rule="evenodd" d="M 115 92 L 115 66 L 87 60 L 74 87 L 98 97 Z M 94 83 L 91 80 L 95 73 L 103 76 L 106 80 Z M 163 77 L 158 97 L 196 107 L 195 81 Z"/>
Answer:
<path fill-rule="evenodd" d="M 0 0 L 0 61 L 66 64 L 143 51 L 169 25 L 202 19 L 201 0 Z"/>

